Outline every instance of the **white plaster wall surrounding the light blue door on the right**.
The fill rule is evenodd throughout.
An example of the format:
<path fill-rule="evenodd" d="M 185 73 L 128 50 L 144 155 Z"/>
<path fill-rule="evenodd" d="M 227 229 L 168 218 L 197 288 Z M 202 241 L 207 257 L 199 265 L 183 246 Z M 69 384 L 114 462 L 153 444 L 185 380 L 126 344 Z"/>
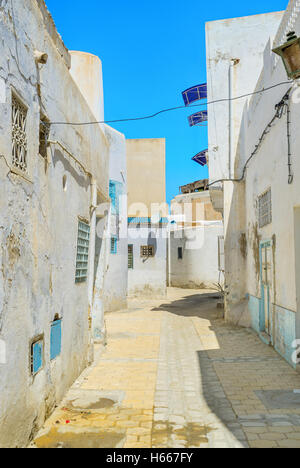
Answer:
<path fill-rule="evenodd" d="M 300 35 L 300 18 L 296 17 L 295 31 Z M 267 87 L 287 80 L 281 60 L 274 54 L 265 56 L 264 80 Z M 249 121 L 245 134 L 245 156 L 256 144 L 262 131 L 274 115 L 274 106 L 288 90 L 289 85 L 264 93 L 249 106 Z M 260 297 L 259 276 L 255 259 L 261 240 L 274 239 L 274 297 L 273 301 L 286 309 L 297 310 L 295 281 L 294 207 L 300 205 L 298 158 L 300 118 L 299 104 L 291 99 L 291 151 L 293 184 L 288 184 L 286 115 L 277 120 L 264 139 L 258 154 L 249 164 L 246 177 L 246 214 L 248 227 L 247 288 L 250 294 Z M 263 177 L 262 177 L 263 174 Z M 265 190 L 272 190 L 272 224 L 259 229 L 257 201 Z"/>

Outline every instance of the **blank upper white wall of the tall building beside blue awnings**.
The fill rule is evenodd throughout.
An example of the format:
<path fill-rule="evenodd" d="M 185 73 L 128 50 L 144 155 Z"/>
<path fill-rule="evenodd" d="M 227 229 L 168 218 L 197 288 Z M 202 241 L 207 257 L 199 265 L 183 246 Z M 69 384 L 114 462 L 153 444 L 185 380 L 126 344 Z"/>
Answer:
<path fill-rule="evenodd" d="M 251 93 L 261 73 L 263 54 L 270 36 L 275 35 L 282 12 L 232 18 L 206 23 L 208 101 L 229 97 L 229 66 L 234 66 L 233 96 Z M 233 103 L 234 152 L 246 99 Z M 208 105 L 210 182 L 228 178 L 229 103 Z M 233 160 L 234 162 L 234 160 Z"/>

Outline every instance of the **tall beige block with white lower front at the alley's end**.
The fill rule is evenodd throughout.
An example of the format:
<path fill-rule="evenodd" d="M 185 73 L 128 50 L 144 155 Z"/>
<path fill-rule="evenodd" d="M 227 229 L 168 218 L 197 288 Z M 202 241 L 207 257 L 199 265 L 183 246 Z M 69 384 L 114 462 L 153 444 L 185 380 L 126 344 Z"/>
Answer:
<path fill-rule="evenodd" d="M 165 139 L 127 140 L 128 294 L 165 296 L 168 206 Z"/>

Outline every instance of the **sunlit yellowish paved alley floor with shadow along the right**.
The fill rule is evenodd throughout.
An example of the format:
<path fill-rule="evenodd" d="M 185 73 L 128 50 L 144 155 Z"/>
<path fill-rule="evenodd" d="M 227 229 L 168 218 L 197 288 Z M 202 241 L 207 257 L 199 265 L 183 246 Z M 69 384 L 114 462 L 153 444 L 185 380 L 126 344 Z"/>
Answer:
<path fill-rule="evenodd" d="M 108 314 L 107 347 L 32 446 L 300 447 L 299 374 L 217 302 L 169 289 Z"/>

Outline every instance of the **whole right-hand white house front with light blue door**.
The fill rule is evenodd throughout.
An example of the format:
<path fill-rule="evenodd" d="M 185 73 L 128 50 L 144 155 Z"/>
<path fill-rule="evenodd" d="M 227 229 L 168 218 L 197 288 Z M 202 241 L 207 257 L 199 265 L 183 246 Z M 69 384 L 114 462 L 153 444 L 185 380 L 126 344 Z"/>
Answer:
<path fill-rule="evenodd" d="M 225 22 L 207 25 L 209 100 L 222 97 L 219 83 L 226 76 L 218 69 L 218 50 L 234 59 L 223 63 L 224 70 L 232 68 L 227 74 L 232 97 L 252 93 L 209 106 L 210 181 L 235 179 L 217 184 L 214 192 L 225 225 L 226 317 L 252 326 L 294 367 L 300 331 L 299 93 L 272 49 L 286 42 L 290 31 L 300 35 L 299 11 L 299 1 L 290 1 L 285 12 L 229 20 L 247 25 L 239 40 L 234 29 L 226 32 Z M 255 26 L 252 34 L 257 22 L 264 26 Z M 214 43 L 214 28 L 221 31 L 222 44 L 221 35 Z M 217 126 L 212 121 L 220 105 L 228 124 L 223 130 L 220 121 Z"/>

